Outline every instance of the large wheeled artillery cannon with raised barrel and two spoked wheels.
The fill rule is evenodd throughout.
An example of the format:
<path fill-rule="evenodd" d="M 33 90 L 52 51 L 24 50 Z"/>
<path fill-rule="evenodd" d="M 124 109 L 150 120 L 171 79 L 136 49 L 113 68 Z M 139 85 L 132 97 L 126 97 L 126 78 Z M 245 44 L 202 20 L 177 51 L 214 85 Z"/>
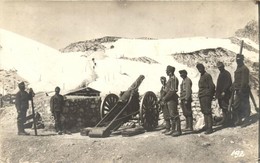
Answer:
<path fill-rule="evenodd" d="M 122 95 L 108 94 L 101 103 L 101 120 L 92 128 L 89 137 L 108 137 L 123 123 L 134 119 L 137 115 L 140 126 L 145 130 L 153 130 L 158 125 L 159 110 L 156 95 L 148 91 L 139 104 L 138 88 L 144 76 L 140 75 L 136 81 Z"/>

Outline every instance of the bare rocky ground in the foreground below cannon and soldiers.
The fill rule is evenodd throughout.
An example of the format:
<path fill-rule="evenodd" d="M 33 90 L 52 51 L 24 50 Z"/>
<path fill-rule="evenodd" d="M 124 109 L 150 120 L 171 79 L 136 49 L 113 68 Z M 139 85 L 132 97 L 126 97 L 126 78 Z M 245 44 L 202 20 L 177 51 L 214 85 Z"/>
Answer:
<path fill-rule="evenodd" d="M 90 138 L 80 133 L 57 135 L 40 129 L 38 136 L 18 136 L 14 106 L 0 109 L 0 162 L 257 162 L 258 115 L 244 127 L 220 129 L 211 135 L 171 137 L 162 130 L 123 137 Z"/>

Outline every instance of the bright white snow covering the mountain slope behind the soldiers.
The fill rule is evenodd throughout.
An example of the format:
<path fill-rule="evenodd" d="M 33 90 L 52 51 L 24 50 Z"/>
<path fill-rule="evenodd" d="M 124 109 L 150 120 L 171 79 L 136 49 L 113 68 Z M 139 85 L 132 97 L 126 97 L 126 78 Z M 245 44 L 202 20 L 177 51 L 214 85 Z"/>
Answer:
<path fill-rule="evenodd" d="M 258 49 L 254 42 L 244 41 Z M 62 92 L 88 85 L 101 91 L 101 95 L 116 93 L 128 89 L 139 75 L 145 79 L 139 87 L 140 94 L 146 91 L 160 90 L 160 76 L 166 76 L 167 65 L 176 68 L 176 76 L 181 80 L 178 71 L 186 69 L 193 79 L 193 90 L 197 90 L 199 73 L 195 67 L 178 63 L 171 56 L 175 53 L 193 52 L 206 48 L 222 47 L 239 52 L 240 47 L 229 39 L 206 37 L 179 39 L 119 39 L 116 42 L 103 43 L 105 50 L 61 53 L 41 43 L 23 36 L 0 29 L 0 69 L 15 69 L 26 79 L 35 92 L 53 91 L 56 86 Z M 110 48 L 113 45 L 113 48 Z M 258 54 L 243 50 L 245 57 L 253 62 L 258 61 Z M 157 64 L 120 59 L 120 57 L 149 57 Z M 96 65 L 93 64 L 95 59 Z M 216 76 L 216 75 L 215 75 Z M 214 79 L 216 81 L 216 79 Z M 2 87 L 0 91 L 2 92 Z"/>

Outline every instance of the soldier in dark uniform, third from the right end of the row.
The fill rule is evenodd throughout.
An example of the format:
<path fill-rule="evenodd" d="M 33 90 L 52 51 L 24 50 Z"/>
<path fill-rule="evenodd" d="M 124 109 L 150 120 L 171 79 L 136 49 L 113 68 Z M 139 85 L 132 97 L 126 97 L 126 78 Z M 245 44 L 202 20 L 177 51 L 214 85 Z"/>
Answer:
<path fill-rule="evenodd" d="M 201 112 L 204 115 L 205 126 L 202 128 L 202 131 L 205 131 L 205 134 L 211 134 L 213 132 L 212 125 L 212 109 L 211 102 L 215 92 L 215 85 L 213 83 L 212 77 L 205 71 L 203 64 L 198 63 L 196 65 L 201 76 L 199 79 L 199 101 Z"/>

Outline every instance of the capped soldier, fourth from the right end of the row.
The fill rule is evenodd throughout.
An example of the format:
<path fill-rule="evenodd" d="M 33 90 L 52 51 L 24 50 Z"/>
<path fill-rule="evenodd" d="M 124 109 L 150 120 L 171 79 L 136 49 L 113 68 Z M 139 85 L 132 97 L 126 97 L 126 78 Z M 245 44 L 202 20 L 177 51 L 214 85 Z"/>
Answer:
<path fill-rule="evenodd" d="M 181 100 L 181 108 L 183 115 L 186 119 L 186 131 L 193 131 L 193 116 L 191 109 L 192 102 L 192 81 L 189 77 L 187 77 L 186 70 L 179 71 L 182 80 L 181 83 L 181 92 L 180 92 L 180 100 Z"/>

